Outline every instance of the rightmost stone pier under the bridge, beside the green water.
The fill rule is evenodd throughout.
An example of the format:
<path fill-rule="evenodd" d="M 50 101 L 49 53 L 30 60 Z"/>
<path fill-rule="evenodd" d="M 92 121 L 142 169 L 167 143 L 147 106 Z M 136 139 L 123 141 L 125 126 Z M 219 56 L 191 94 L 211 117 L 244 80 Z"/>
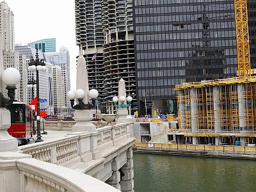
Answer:
<path fill-rule="evenodd" d="M 133 173 L 133 159 L 132 148 L 129 148 L 126 152 L 127 163 L 122 166 L 121 170 L 124 173 L 122 180 L 120 180 L 121 191 L 134 192 L 134 173 Z"/>

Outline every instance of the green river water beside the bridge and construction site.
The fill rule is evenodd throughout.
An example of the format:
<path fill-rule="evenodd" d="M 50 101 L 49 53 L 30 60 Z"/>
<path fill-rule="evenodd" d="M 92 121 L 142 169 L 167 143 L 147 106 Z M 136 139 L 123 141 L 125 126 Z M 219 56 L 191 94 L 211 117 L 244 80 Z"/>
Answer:
<path fill-rule="evenodd" d="M 256 191 L 256 161 L 134 154 L 134 191 Z"/>

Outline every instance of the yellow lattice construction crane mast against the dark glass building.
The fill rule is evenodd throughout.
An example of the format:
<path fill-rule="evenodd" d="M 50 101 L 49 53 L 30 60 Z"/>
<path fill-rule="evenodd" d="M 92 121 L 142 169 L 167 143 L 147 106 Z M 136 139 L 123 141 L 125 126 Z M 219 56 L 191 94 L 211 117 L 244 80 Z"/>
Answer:
<path fill-rule="evenodd" d="M 237 39 L 237 76 L 251 76 L 247 0 L 234 0 Z"/>

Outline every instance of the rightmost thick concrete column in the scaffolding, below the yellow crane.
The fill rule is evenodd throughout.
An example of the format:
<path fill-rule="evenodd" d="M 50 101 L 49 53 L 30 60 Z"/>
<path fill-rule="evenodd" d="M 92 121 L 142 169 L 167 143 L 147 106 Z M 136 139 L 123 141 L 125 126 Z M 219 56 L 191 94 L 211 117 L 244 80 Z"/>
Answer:
<path fill-rule="evenodd" d="M 240 131 L 246 131 L 246 106 L 244 95 L 244 84 L 237 84 L 239 128 Z"/>

